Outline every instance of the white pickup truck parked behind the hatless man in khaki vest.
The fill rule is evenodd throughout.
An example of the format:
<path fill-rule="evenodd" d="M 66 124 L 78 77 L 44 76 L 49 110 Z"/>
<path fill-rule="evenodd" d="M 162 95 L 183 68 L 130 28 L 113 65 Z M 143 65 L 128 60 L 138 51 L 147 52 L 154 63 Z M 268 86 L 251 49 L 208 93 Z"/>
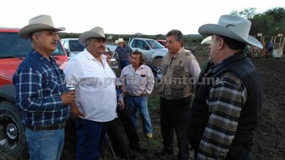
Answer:
<path fill-rule="evenodd" d="M 140 51 L 146 64 L 152 64 L 158 67 L 161 65 L 163 56 L 168 53 L 168 50 L 164 46 L 148 38 L 130 38 L 128 46 L 130 46 L 133 51 Z M 111 44 L 107 44 L 106 47 L 112 52 L 115 52 L 115 48 L 117 48 L 116 45 Z"/>

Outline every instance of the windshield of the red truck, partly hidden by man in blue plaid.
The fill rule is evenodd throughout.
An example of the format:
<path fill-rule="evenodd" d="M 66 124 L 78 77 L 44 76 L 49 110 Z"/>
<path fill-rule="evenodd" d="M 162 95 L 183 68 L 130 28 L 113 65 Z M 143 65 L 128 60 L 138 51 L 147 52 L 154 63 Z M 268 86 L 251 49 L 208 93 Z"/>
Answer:
<path fill-rule="evenodd" d="M 30 49 L 30 41 L 19 38 L 18 33 L 0 33 L 0 58 L 13 56 L 17 58 L 24 58 Z M 53 52 L 53 55 L 64 55 L 60 41 L 58 41 L 57 49 Z"/>

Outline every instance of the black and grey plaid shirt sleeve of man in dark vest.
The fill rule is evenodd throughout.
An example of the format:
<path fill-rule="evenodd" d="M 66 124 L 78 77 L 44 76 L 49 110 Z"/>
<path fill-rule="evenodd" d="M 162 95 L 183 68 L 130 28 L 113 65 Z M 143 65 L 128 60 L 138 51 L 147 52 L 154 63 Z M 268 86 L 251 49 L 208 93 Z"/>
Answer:
<path fill-rule="evenodd" d="M 247 100 L 246 87 L 237 75 L 224 73 L 219 78 L 207 98 L 209 121 L 199 144 L 197 159 L 226 158 Z"/>

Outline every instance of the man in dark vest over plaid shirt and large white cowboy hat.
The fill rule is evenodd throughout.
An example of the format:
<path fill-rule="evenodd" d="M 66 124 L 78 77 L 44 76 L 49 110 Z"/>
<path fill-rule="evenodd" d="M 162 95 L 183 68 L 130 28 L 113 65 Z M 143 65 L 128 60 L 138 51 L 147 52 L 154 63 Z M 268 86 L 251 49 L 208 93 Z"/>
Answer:
<path fill-rule="evenodd" d="M 246 43 L 262 48 L 249 36 L 251 22 L 224 15 L 199 28 L 212 35 L 213 65 L 201 73 L 190 112 L 188 138 L 195 159 L 250 159 L 253 132 L 261 108 L 257 70 L 244 54 Z"/>

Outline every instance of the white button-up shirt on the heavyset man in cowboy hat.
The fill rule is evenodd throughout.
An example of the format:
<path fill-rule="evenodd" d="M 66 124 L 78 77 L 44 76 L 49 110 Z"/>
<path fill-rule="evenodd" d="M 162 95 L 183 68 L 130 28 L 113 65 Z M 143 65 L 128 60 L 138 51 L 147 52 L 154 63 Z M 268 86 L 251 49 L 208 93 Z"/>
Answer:
<path fill-rule="evenodd" d="M 76 88 L 76 106 L 85 114 L 84 119 L 108 122 L 117 117 L 115 74 L 100 55 L 103 65 L 88 50 L 69 60 L 64 73 L 66 83 Z"/>

